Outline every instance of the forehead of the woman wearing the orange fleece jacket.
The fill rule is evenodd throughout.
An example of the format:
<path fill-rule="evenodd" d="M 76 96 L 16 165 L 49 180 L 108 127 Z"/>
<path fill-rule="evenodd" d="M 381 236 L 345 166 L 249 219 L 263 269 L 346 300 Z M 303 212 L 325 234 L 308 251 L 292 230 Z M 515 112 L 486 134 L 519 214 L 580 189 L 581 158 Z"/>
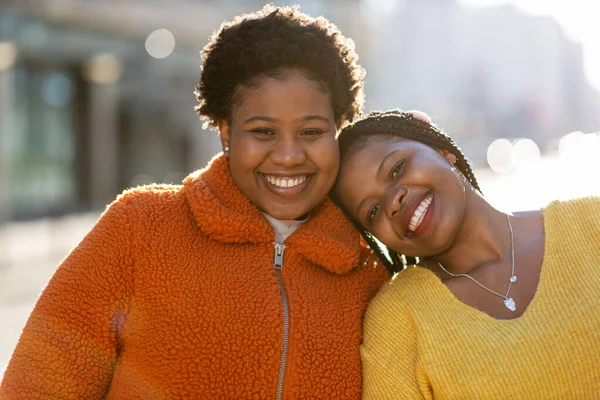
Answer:
<path fill-rule="evenodd" d="M 322 86 L 298 70 L 289 70 L 276 77 L 256 78 L 252 85 L 240 85 L 234 94 L 232 116 L 255 114 L 278 115 L 319 114 L 333 116 L 330 96 Z"/>

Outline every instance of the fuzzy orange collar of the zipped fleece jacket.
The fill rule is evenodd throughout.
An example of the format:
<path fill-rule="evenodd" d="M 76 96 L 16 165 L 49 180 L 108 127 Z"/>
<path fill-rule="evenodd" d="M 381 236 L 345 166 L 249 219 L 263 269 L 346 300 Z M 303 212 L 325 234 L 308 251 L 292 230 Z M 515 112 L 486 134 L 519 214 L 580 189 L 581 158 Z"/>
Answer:
<path fill-rule="evenodd" d="M 211 239 L 224 243 L 274 240 L 275 233 L 267 219 L 233 181 L 224 155 L 217 155 L 206 168 L 189 175 L 183 186 L 196 223 Z M 359 263 L 360 235 L 329 199 L 312 211 L 286 244 L 337 274 L 344 274 Z"/>

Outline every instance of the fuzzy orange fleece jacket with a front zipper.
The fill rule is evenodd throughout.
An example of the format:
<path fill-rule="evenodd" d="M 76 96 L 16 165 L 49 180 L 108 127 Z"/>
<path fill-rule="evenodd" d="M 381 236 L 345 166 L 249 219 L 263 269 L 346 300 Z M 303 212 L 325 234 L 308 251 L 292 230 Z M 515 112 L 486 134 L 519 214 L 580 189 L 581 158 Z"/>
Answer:
<path fill-rule="evenodd" d="M 126 192 L 42 293 L 0 399 L 273 399 L 283 347 L 274 232 L 219 156 Z M 329 200 L 286 240 L 283 398 L 358 399 L 366 305 L 387 272 Z"/>

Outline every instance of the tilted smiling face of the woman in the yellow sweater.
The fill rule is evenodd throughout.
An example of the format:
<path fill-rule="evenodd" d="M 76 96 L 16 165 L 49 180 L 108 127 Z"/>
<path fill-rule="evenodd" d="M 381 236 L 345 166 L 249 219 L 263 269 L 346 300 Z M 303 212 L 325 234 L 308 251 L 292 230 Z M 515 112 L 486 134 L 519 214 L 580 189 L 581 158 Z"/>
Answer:
<path fill-rule="evenodd" d="M 459 232 L 465 187 L 456 157 L 423 143 L 383 135 L 344 159 L 336 184 L 342 205 L 367 231 L 398 253 L 427 257 Z"/>

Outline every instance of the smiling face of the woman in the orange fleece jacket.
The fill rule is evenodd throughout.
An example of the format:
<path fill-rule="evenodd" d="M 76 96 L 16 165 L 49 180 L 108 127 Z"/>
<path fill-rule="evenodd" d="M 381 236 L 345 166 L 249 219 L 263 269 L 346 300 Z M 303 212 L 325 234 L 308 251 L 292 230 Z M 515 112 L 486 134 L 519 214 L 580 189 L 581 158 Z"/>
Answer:
<path fill-rule="evenodd" d="M 238 89 L 230 122 L 220 121 L 234 182 L 261 211 L 297 219 L 331 190 L 339 168 L 331 99 L 297 70 Z"/>

